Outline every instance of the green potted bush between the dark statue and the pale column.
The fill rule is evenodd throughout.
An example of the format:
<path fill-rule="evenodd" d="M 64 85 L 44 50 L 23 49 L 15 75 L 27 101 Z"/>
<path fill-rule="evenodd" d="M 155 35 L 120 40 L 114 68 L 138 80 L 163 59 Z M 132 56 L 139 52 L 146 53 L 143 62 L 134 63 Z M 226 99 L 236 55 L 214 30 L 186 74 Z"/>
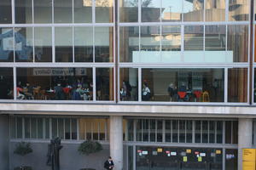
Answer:
<path fill-rule="evenodd" d="M 82 155 L 90 155 L 96 152 L 99 152 L 102 150 L 102 144 L 96 142 L 96 141 L 84 141 L 79 145 L 79 153 Z M 82 168 L 80 170 L 96 170 L 94 168 Z"/>

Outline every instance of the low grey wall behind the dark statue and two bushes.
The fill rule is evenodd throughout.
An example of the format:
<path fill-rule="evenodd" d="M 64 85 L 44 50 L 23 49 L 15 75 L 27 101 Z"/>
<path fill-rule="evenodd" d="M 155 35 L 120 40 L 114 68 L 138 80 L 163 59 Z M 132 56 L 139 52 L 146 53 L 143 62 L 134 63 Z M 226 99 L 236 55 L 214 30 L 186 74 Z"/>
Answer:
<path fill-rule="evenodd" d="M 16 142 L 10 142 L 9 144 L 9 169 L 13 170 L 23 163 L 23 165 L 32 166 L 33 170 L 50 170 L 51 168 L 46 166 L 47 161 L 47 144 L 48 143 L 32 143 L 33 152 L 24 157 L 15 155 Z M 109 156 L 109 145 L 102 144 L 103 150 L 96 154 L 89 156 L 80 155 L 78 152 L 79 144 L 61 144 L 63 148 L 60 153 L 61 170 L 79 170 L 80 168 L 91 167 L 96 170 L 103 170 L 104 161 Z M 1 160 L 0 160 L 1 161 Z M 1 166 L 1 165 L 0 165 Z M 2 169 L 2 168 L 0 168 Z"/>

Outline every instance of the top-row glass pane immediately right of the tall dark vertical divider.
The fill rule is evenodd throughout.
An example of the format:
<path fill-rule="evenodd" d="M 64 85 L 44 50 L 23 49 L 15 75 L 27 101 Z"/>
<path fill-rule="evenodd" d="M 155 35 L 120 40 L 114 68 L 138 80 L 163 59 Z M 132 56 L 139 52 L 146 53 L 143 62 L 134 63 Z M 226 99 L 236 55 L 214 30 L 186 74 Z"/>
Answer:
<path fill-rule="evenodd" d="M 120 22 L 137 22 L 138 0 L 119 0 Z"/>

